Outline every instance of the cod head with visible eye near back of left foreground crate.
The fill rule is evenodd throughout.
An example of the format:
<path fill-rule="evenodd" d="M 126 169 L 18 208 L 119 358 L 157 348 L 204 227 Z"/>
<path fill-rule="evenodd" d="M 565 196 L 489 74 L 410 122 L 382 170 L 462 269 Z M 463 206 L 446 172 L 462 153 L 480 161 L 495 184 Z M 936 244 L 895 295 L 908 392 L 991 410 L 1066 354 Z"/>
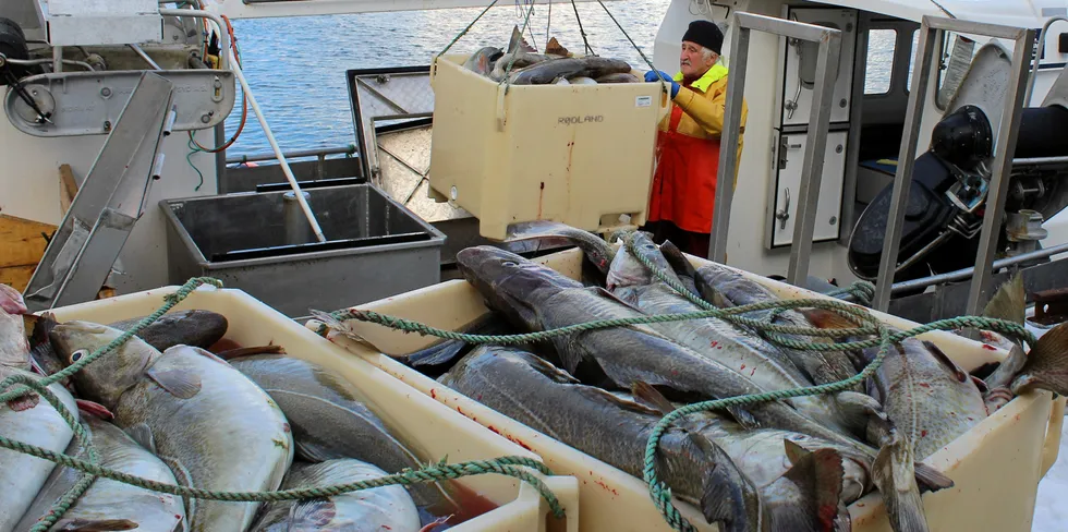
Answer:
<path fill-rule="evenodd" d="M 122 334 L 122 330 L 106 325 L 73 321 L 57 325 L 48 337 L 60 363 L 70 366 Z M 136 384 L 158 356 L 159 351 L 131 336 L 122 346 L 82 367 L 71 378 L 85 398 L 114 409 L 122 392 Z"/>

